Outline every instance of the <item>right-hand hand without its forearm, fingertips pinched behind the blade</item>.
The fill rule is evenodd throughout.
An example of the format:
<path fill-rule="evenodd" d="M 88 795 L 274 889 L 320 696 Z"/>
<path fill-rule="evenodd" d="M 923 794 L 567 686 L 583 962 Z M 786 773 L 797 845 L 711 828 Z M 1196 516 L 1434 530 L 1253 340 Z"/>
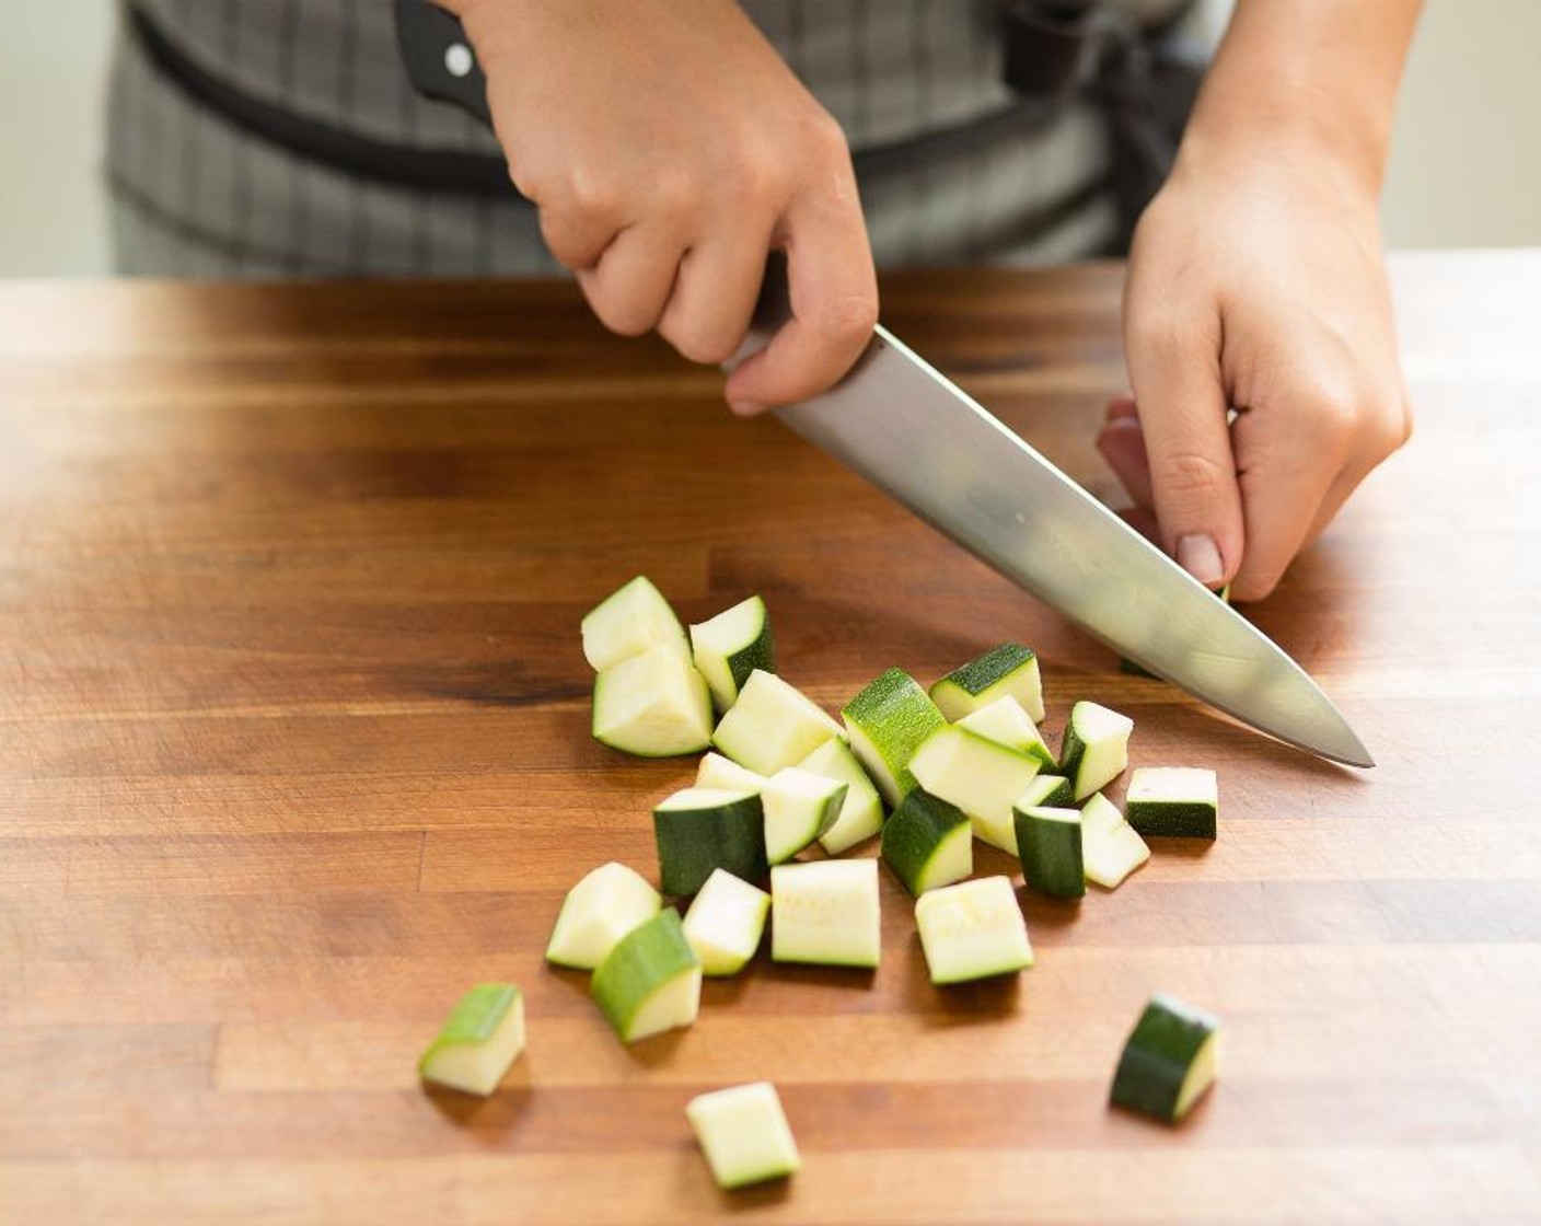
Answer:
<path fill-rule="evenodd" d="M 1099 450 L 1163 547 L 1237 600 L 1412 429 L 1375 196 L 1307 151 L 1185 147 L 1134 234 L 1123 333 L 1134 395 Z"/>

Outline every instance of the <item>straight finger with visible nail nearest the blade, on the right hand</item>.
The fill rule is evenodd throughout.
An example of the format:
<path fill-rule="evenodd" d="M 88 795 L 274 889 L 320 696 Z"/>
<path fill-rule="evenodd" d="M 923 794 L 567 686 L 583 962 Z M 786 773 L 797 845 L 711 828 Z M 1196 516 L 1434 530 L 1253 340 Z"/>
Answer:
<path fill-rule="evenodd" d="M 1219 338 L 1176 332 L 1136 330 L 1128 344 L 1130 382 L 1162 544 L 1199 583 L 1219 588 L 1241 566 L 1245 540 Z"/>

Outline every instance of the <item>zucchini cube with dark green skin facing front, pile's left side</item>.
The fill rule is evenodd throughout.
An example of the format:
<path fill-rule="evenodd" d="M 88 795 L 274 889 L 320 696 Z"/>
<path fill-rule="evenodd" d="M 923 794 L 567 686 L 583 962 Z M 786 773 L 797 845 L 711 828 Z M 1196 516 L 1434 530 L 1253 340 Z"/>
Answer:
<path fill-rule="evenodd" d="M 684 788 L 653 810 L 658 879 L 666 894 L 693 894 L 718 868 L 764 881 L 766 824 L 752 791 Z"/>

